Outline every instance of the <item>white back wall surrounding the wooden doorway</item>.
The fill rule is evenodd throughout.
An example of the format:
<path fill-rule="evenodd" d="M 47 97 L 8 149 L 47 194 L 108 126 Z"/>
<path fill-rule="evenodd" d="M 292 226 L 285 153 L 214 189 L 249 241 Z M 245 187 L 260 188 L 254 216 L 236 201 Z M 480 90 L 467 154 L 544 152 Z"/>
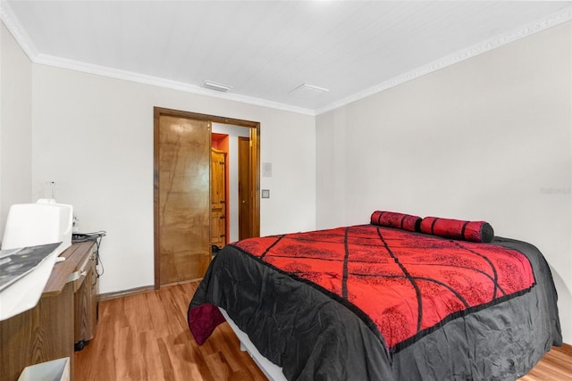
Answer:
<path fill-rule="evenodd" d="M 38 64 L 32 89 L 33 197 L 55 181 L 81 231 L 107 231 L 101 293 L 154 282 L 154 106 L 259 121 L 261 161 L 282 169 L 282 192 L 261 203 L 261 234 L 315 228 L 314 117 Z"/>

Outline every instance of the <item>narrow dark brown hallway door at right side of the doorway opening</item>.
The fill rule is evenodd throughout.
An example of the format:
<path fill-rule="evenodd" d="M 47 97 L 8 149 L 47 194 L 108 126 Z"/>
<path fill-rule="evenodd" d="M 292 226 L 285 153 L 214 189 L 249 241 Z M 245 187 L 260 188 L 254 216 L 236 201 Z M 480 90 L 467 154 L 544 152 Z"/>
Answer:
<path fill-rule="evenodd" d="M 250 219 L 252 208 L 250 167 L 250 139 L 239 137 L 239 239 L 255 236 Z"/>

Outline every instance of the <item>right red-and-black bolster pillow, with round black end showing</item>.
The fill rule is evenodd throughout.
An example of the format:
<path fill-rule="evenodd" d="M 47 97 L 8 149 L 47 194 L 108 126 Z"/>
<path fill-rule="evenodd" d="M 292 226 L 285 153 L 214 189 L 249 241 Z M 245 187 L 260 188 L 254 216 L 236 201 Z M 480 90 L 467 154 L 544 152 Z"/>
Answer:
<path fill-rule="evenodd" d="M 425 217 L 421 221 L 421 232 L 471 242 L 488 243 L 494 238 L 494 231 L 488 222 L 441 219 L 438 217 Z"/>

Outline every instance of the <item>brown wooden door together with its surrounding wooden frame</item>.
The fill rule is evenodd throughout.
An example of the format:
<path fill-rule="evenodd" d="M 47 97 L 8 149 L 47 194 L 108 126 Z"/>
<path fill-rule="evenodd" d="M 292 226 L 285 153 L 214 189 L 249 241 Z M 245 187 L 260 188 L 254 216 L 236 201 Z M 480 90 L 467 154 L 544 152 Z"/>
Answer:
<path fill-rule="evenodd" d="M 168 286 L 203 277 L 211 260 L 210 227 L 210 154 L 212 124 L 221 123 L 248 128 L 250 147 L 248 152 L 248 174 L 251 196 L 249 197 L 248 226 L 251 236 L 260 235 L 260 123 L 250 120 L 236 120 L 215 115 L 156 107 L 154 109 L 154 221 L 155 221 L 155 285 Z M 205 139 L 205 131 L 208 137 Z M 198 132 L 198 138 L 187 142 L 189 136 Z M 178 152 L 179 147 L 186 146 L 185 151 Z M 192 148 L 189 148 L 192 147 Z M 192 154 L 191 154 L 192 153 Z M 194 157 L 200 153 L 200 159 L 179 162 L 181 157 Z M 203 154 L 204 153 L 204 154 Z M 203 160 L 206 155 L 206 164 Z M 171 162 L 169 162 L 171 161 Z M 195 167 L 199 162 L 200 168 Z M 185 167 L 181 167 L 184 165 Z M 182 178 L 172 186 L 173 173 Z M 195 178 L 188 178 L 194 173 Z M 203 174 L 199 180 L 198 174 Z M 206 176 L 205 176 L 206 175 Z M 205 181 L 206 180 L 206 181 Z M 181 212 L 177 197 L 200 195 L 198 201 L 188 205 L 189 212 Z M 194 211 L 193 205 L 200 205 L 200 212 Z M 204 207 L 206 205 L 206 208 Z M 193 213 L 192 218 L 187 218 Z M 209 237 L 204 239 L 204 237 Z M 197 242 L 190 242 L 197 237 Z M 205 242 L 207 244 L 205 244 Z M 176 261 L 173 261 L 176 258 Z M 185 266 L 181 266 L 184 263 Z M 187 264 L 191 264 L 187 266 Z M 188 269 L 187 269 L 188 268 Z"/>

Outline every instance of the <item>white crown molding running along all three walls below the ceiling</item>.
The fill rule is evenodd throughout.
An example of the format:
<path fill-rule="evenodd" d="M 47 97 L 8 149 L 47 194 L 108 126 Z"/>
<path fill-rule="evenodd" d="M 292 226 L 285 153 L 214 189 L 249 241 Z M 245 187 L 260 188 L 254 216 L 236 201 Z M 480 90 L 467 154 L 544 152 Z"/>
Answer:
<path fill-rule="evenodd" d="M 197 85 L 191 85 L 189 83 L 180 81 L 161 79 L 154 76 L 139 74 L 133 71 L 118 70 L 86 62 L 68 60 L 48 54 L 38 54 L 36 46 L 32 44 L 25 30 L 21 28 L 20 22 L 14 16 L 12 8 L 4 1 L 0 1 L 0 19 L 4 22 L 6 28 L 10 30 L 13 37 L 21 46 L 22 50 L 28 55 L 30 61 L 33 63 L 44 64 L 68 70 L 76 70 L 114 79 L 124 79 L 145 85 L 171 88 L 173 90 L 180 90 L 197 95 L 213 96 L 215 98 L 221 98 L 245 104 L 254 104 L 286 112 L 296 112 L 299 114 L 316 116 L 323 114 L 324 112 L 330 112 L 347 104 L 351 104 L 360 99 L 366 98 L 367 96 L 380 93 L 391 87 L 399 86 L 402 83 L 422 77 L 426 74 L 432 73 L 433 71 L 441 70 L 452 64 L 465 61 L 469 58 L 475 57 L 476 55 L 484 54 L 492 49 L 516 41 L 517 39 L 533 35 L 534 33 L 540 32 L 544 29 L 548 29 L 559 25 L 560 23 L 570 21 L 572 20 L 572 6 L 569 6 L 568 8 L 565 8 L 559 12 L 552 13 L 551 15 L 546 16 L 538 21 L 531 22 L 524 26 L 518 27 L 517 29 L 512 29 L 500 36 L 492 37 L 474 46 L 469 46 L 466 49 L 462 49 L 456 53 L 446 55 L 419 68 L 403 73 L 400 76 L 388 79 L 373 87 L 366 88 L 366 90 L 360 91 L 354 95 L 349 95 L 339 101 L 333 102 L 332 104 L 328 104 L 315 110 L 292 106 L 290 104 L 281 104 L 278 102 L 268 101 L 247 95 L 220 93 L 214 90 L 209 90 L 204 87 L 199 87 Z"/>

